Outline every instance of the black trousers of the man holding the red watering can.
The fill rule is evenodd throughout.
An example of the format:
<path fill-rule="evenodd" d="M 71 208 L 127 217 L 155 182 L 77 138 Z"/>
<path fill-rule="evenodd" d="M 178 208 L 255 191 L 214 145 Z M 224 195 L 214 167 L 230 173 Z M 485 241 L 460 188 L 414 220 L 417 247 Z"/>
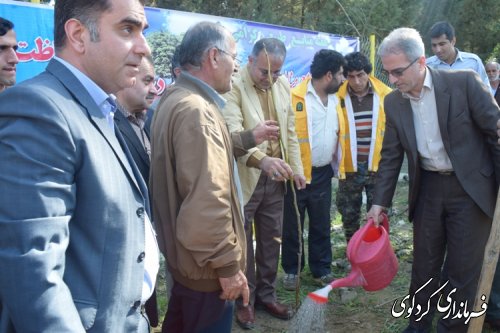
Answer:
<path fill-rule="evenodd" d="M 452 318 L 458 310 L 464 313 L 465 302 L 468 311 L 474 305 L 490 228 L 491 219 L 464 191 L 454 174 L 422 170 L 413 221 L 414 258 L 409 299 L 410 306 L 415 302 L 410 316 L 412 327 L 431 326 L 442 295 L 437 331 L 467 332 L 467 318 Z M 443 262 L 447 281 L 441 281 Z M 420 312 L 417 305 L 421 306 Z M 451 305 L 449 310 L 443 311 L 448 305 Z"/>

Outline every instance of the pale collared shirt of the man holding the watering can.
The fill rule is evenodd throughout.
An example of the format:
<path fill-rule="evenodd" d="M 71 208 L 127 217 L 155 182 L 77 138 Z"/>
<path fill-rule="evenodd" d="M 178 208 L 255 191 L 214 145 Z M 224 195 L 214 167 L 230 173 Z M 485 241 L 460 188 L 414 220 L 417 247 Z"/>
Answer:
<path fill-rule="evenodd" d="M 417 137 L 417 150 L 420 166 L 429 171 L 452 171 L 448 153 L 444 149 L 437 116 L 436 96 L 432 75 L 425 70 L 424 86 L 418 98 L 408 94 L 403 97 L 410 99 L 413 110 L 413 122 Z"/>

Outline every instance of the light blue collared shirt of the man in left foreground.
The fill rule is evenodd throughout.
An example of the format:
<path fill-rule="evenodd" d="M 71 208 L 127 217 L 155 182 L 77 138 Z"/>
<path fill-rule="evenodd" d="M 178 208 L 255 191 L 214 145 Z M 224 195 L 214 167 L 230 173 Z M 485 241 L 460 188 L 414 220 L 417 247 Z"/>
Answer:
<path fill-rule="evenodd" d="M 114 104 L 114 102 L 110 102 L 109 99 L 111 98 L 113 101 L 115 101 L 116 98 L 113 95 L 106 94 L 106 92 L 104 92 L 101 87 L 99 87 L 87 75 L 83 74 L 78 68 L 74 67 L 73 65 L 59 57 L 55 58 L 66 68 L 68 68 L 71 73 L 75 75 L 78 81 L 80 81 L 80 83 L 85 87 L 92 99 L 99 106 L 101 112 L 108 121 L 108 125 L 110 125 L 110 128 L 114 133 L 113 119 L 116 105 Z M 133 161 L 129 161 L 129 163 L 133 163 Z M 141 296 L 141 302 L 143 303 L 145 303 L 153 293 L 156 283 L 156 275 L 158 274 L 158 269 L 160 266 L 158 244 L 156 243 L 156 236 L 154 234 L 153 226 L 147 214 L 144 215 L 144 252 L 147 255 L 144 258 L 144 277 Z"/>

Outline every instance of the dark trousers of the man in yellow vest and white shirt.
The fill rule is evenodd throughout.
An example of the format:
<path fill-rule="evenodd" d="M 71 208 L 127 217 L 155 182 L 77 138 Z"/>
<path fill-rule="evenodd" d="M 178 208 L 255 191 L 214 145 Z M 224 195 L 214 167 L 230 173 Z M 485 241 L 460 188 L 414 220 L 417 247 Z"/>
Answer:
<path fill-rule="evenodd" d="M 300 214 L 301 229 L 304 218 L 309 216 L 308 262 L 312 275 L 319 278 L 331 272 L 332 245 L 330 240 L 330 207 L 332 203 L 332 177 L 330 165 L 312 169 L 311 184 L 303 190 L 295 190 Z M 303 235 L 300 235 L 303 239 Z M 302 246 L 304 244 L 302 243 Z M 293 194 L 288 185 L 283 215 L 283 243 L 281 245 L 281 266 L 287 274 L 297 274 L 299 235 L 297 215 L 293 205 Z M 301 268 L 304 268 L 302 249 Z"/>

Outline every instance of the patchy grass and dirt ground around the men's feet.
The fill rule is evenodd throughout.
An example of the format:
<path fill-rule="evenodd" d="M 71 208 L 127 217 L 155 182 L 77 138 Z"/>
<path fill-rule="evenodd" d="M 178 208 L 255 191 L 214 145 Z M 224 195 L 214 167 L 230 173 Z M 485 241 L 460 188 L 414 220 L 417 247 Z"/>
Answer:
<path fill-rule="evenodd" d="M 405 170 L 403 170 L 405 171 Z M 401 302 L 407 295 L 411 278 L 411 264 L 413 260 L 412 225 L 407 221 L 408 212 L 408 181 L 407 177 L 400 177 L 396 188 L 393 205 L 390 214 L 390 239 L 392 247 L 399 262 L 399 269 L 391 284 L 377 292 L 366 292 L 361 287 L 348 289 L 346 291 L 333 290 L 330 292 L 329 300 L 324 305 L 325 321 L 324 333 L 396 333 L 402 332 L 408 325 L 407 319 L 394 318 L 391 309 L 394 302 Z M 334 182 L 335 185 L 335 182 Z M 335 186 L 332 199 L 332 249 L 333 273 L 336 278 L 346 276 L 349 271 L 343 265 L 338 265 L 345 259 L 346 243 L 343 236 L 342 223 L 335 209 Z M 306 229 L 307 230 L 307 229 Z M 307 241 L 307 240 L 306 240 Z M 307 246 L 305 246 L 307 248 Z M 307 255 L 306 255 L 307 258 Z M 281 281 L 283 272 L 279 272 L 277 294 L 278 300 L 286 304 L 295 304 L 295 292 L 286 291 L 282 288 Z M 159 283 L 158 300 L 160 302 L 161 318 L 165 313 L 165 293 L 162 288 L 163 282 Z M 308 267 L 301 274 L 301 290 L 299 301 L 303 302 L 308 293 L 317 290 L 319 286 L 312 279 Z M 396 304 L 397 305 L 397 304 Z M 286 333 L 290 330 L 293 321 L 276 319 L 262 310 L 256 310 L 255 329 L 251 331 L 242 330 L 236 321 L 233 322 L 232 333 Z M 159 332 L 157 329 L 155 332 Z M 304 333 L 311 330 L 304 329 Z M 484 333 L 493 332 L 487 326 Z"/>

